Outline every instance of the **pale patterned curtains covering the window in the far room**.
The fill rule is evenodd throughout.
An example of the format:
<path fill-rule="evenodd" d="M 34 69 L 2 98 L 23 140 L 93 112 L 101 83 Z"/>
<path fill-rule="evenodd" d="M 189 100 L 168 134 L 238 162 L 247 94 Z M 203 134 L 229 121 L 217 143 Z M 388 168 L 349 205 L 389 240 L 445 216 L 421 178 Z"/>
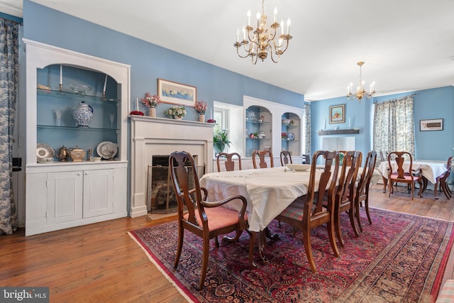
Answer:
<path fill-rule="evenodd" d="M 414 158 L 413 97 L 404 97 L 375 104 L 374 150 L 386 155 L 407 151 Z"/>

